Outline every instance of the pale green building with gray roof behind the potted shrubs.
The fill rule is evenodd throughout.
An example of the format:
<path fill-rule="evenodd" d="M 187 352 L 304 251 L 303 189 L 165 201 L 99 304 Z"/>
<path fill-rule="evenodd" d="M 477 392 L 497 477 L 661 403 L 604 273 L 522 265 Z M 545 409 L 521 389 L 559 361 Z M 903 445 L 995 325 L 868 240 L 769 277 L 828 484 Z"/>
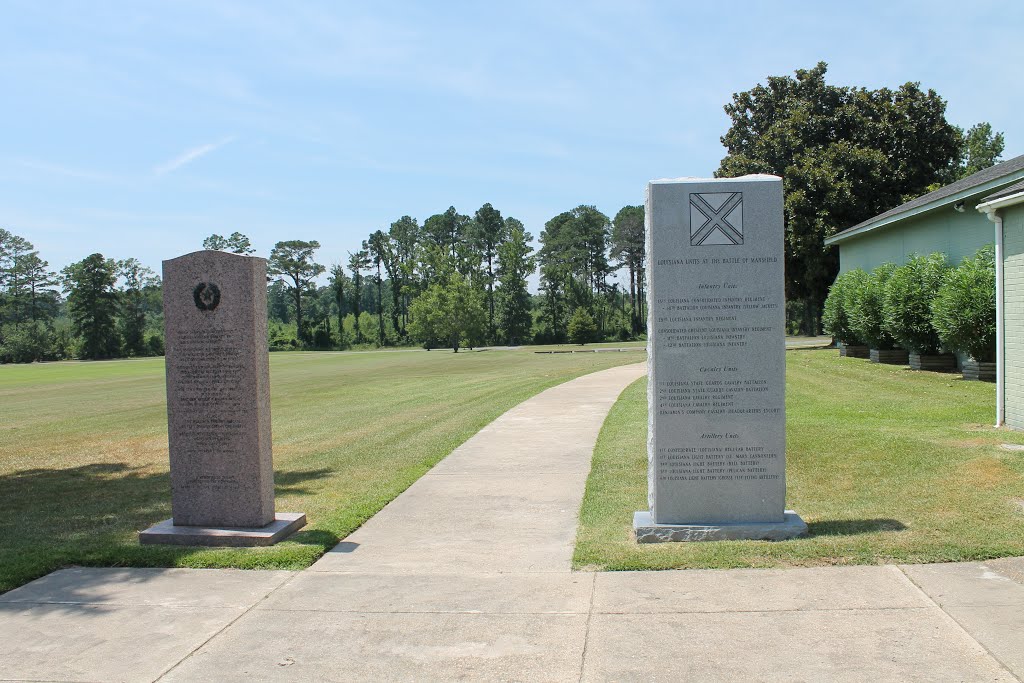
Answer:
<path fill-rule="evenodd" d="M 986 168 L 825 240 L 840 271 L 943 252 L 957 263 L 995 244 L 996 424 L 1024 429 L 1024 155 Z"/>

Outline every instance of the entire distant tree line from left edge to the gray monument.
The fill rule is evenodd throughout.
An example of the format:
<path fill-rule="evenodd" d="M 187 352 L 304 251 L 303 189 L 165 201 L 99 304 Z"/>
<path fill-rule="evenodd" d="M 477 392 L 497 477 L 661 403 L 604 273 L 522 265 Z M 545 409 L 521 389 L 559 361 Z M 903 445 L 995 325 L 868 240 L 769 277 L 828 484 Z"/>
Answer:
<path fill-rule="evenodd" d="M 278 242 L 267 259 L 269 345 L 345 349 L 586 343 L 645 331 L 643 207 L 609 219 L 580 206 L 549 220 L 540 250 L 490 204 L 421 224 L 401 216 L 330 267 L 316 241 Z M 204 249 L 252 255 L 242 232 Z M 623 269 L 628 286 L 610 282 Z M 528 280 L 540 269 L 541 292 Z M 326 281 L 326 282 L 325 282 Z M 160 355 L 160 278 L 137 259 L 91 254 L 59 272 L 0 229 L 0 362 Z"/>

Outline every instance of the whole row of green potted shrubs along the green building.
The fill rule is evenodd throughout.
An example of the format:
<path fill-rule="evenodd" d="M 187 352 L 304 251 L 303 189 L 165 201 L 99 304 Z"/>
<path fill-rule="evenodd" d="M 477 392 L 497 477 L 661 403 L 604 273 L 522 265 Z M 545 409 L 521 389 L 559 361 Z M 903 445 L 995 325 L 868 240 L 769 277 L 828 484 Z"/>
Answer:
<path fill-rule="evenodd" d="M 928 355 L 995 357 L 995 258 L 983 247 L 954 267 L 944 254 L 911 255 L 897 266 L 848 270 L 836 279 L 822 316 L 825 330 L 851 346 L 904 348 Z"/>

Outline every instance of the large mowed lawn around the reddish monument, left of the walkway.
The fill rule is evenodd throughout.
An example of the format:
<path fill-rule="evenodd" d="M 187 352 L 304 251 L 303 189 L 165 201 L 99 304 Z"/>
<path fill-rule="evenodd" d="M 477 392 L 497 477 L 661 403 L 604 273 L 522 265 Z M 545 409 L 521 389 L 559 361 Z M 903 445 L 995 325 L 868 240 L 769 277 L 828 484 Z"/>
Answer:
<path fill-rule="evenodd" d="M 516 403 L 637 353 L 271 354 L 272 548 L 140 546 L 170 517 L 162 358 L 0 367 L 0 592 L 57 567 L 303 567 Z"/>

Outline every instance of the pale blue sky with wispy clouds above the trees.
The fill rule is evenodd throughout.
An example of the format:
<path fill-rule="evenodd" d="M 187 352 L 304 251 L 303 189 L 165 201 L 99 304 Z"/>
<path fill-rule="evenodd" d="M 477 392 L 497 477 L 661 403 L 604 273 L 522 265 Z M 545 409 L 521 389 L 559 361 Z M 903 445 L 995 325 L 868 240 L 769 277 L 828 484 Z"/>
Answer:
<path fill-rule="evenodd" d="M 920 81 L 1024 153 L 1024 3 L 0 0 L 0 226 L 54 268 L 490 202 L 535 234 L 710 175 L 768 75 Z"/>

